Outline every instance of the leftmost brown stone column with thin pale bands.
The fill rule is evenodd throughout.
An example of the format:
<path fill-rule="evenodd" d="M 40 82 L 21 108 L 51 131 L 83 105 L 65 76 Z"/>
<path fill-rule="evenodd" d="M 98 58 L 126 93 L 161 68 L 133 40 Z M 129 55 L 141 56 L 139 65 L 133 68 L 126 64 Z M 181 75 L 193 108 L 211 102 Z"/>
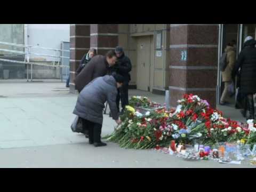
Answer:
<path fill-rule="evenodd" d="M 70 92 L 75 92 L 75 71 L 90 49 L 90 24 L 70 24 Z"/>

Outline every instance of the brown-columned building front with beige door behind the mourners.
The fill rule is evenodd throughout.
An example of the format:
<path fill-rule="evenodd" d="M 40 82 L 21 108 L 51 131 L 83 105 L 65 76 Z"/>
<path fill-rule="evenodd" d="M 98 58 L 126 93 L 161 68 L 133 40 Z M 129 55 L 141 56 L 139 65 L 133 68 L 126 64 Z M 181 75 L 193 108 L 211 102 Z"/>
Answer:
<path fill-rule="evenodd" d="M 185 93 L 206 99 L 213 107 L 219 101 L 219 57 L 230 39 L 239 47 L 246 35 L 255 36 L 255 26 L 223 24 L 71 24 L 70 91 L 75 92 L 75 71 L 90 47 L 105 54 L 124 47 L 132 61 L 131 89 L 165 94 L 171 106 Z"/>

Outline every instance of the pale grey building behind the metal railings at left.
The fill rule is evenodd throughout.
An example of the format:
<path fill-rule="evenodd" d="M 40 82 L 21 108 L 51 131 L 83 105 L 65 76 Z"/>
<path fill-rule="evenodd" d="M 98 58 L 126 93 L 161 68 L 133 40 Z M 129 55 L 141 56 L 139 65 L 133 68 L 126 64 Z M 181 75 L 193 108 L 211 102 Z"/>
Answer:
<path fill-rule="evenodd" d="M 69 42 L 69 24 L 0 24 L 0 42 L 25 44 L 35 47 L 47 47 L 61 49 L 62 42 Z M 0 43 L 0 58 L 24 61 L 24 54 L 8 52 L 3 50 L 25 51 L 23 47 L 11 46 Z M 30 61 L 49 64 L 53 62 L 52 57 L 36 54 L 54 55 L 55 52 L 46 49 L 30 49 L 35 53 L 30 55 Z M 27 78 L 27 70 L 30 76 L 30 66 L 27 69 L 25 63 L 0 61 L 0 79 L 22 79 Z M 4 73 L 7 77 L 4 77 Z M 6 76 L 6 75 L 5 75 Z M 61 70 L 48 66 L 33 66 L 34 78 L 60 78 Z"/>

